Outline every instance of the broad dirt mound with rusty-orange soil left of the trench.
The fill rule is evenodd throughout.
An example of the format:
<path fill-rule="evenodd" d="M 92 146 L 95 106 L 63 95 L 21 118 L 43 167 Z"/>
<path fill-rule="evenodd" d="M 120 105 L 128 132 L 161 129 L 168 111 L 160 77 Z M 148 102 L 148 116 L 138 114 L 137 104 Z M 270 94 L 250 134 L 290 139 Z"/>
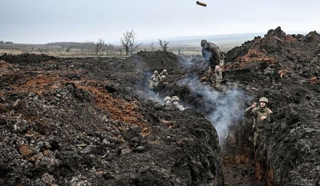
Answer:
<path fill-rule="evenodd" d="M 222 185 L 210 122 L 144 92 L 152 68 L 178 64 L 149 54 L 2 56 L 0 185 Z"/>

